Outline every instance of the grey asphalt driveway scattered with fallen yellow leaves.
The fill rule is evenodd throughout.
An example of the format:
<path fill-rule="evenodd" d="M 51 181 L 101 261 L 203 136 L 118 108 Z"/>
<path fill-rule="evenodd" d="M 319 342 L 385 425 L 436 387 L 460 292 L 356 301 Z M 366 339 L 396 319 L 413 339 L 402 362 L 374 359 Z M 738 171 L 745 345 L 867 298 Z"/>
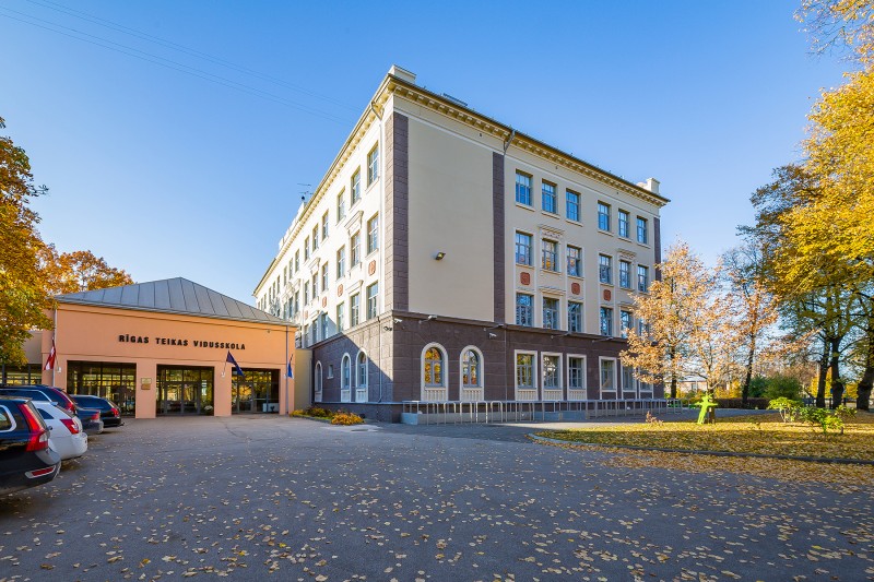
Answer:
<path fill-rule="evenodd" d="M 609 467 L 529 430 L 131 420 L 0 498 L 0 579 L 874 578 L 870 492 Z"/>

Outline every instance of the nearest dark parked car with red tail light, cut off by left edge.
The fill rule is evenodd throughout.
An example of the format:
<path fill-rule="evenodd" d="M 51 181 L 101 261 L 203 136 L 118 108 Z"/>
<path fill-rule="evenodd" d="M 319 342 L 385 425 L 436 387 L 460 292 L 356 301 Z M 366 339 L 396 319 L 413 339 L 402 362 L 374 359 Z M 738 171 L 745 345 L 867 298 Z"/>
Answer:
<path fill-rule="evenodd" d="M 0 395 L 0 494 L 43 485 L 60 473 L 61 458 L 48 439 L 29 399 Z"/>

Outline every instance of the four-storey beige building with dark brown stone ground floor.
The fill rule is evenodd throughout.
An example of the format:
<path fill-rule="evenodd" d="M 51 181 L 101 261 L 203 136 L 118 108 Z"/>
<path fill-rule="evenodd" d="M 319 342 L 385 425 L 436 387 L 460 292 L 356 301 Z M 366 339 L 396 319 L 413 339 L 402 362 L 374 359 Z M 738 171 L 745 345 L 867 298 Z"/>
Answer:
<path fill-rule="evenodd" d="M 393 67 L 255 296 L 326 405 L 658 399 L 618 354 L 666 202 Z"/>

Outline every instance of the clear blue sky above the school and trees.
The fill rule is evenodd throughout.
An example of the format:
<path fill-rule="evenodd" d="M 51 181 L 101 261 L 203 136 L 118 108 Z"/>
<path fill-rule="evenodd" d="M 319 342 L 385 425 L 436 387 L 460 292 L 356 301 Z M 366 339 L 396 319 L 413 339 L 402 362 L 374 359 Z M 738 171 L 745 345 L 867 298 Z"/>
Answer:
<path fill-rule="evenodd" d="M 44 238 L 138 282 L 185 276 L 252 302 L 300 185 L 321 180 L 392 63 L 626 179 L 658 178 L 663 240 L 712 262 L 849 68 L 808 54 L 795 9 L 4 0 L 0 116 L 51 190 L 34 203 Z"/>

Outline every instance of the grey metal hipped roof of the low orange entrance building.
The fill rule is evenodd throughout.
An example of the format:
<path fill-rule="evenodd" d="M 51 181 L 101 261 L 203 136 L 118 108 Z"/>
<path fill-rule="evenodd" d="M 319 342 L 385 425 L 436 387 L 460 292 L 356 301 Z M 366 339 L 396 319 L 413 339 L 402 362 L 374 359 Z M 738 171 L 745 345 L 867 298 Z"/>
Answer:
<path fill-rule="evenodd" d="M 57 295 L 55 299 L 61 304 L 118 307 L 161 313 L 287 324 L 286 321 L 275 316 L 182 277 L 68 293 Z"/>

